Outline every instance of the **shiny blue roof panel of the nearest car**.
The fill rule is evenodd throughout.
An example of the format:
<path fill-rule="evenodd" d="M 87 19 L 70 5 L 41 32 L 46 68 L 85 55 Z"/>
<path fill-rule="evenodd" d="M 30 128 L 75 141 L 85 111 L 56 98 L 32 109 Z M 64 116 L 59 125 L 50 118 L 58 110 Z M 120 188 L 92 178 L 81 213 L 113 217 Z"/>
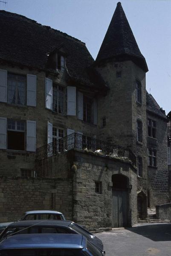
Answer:
<path fill-rule="evenodd" d="M 17 248 L 83 248 L 79 234 L 22 234 L 0 242 L 0 250 Z"/>

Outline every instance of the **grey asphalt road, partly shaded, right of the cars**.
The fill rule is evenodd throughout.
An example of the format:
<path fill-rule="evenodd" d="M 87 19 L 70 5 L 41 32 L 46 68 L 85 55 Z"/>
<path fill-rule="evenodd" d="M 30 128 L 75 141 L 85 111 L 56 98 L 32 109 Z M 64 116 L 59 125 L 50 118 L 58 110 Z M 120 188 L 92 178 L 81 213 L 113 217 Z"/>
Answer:
<path fill-rule="evenodd" d="M 171 256 L 171 224 L 141 224 L 96 233 L 106 256 Z"/>

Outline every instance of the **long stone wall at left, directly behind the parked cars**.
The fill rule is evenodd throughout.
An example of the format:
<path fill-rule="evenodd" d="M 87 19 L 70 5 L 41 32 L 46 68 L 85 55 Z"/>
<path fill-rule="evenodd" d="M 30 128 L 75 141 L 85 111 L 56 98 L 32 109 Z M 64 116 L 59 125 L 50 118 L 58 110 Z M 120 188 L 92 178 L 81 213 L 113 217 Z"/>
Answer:
<path fill-rule="evenodd" d="M 43 209 L 60 211 L 72 220 L 72 181 L 0 177 L 0 222 L 16 221 L 25 211 Z"/>

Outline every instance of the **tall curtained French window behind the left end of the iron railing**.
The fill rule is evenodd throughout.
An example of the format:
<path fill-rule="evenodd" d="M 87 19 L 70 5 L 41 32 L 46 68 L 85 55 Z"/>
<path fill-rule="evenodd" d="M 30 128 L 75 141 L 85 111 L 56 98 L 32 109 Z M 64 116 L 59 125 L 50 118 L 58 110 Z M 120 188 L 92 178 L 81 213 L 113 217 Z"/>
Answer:
<path fill-rule="evenodd" d="M 64 130 L 53 127 L 52 141 L 54 142 L 54 147 L 56 146 L 56 148 L 53 148 L 53 150 L 57 149 L 59 152 L 64 151 L 64 140 L 62 138 L 64 138 Z"/>

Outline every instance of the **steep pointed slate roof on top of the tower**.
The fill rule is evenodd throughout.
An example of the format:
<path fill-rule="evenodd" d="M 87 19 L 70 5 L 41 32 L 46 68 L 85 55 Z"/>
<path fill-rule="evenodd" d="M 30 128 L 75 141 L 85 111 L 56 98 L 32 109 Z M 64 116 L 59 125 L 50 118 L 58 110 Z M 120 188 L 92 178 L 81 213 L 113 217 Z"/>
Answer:
<path fill-rule="evenodd" d="M 119 2 L 117 3 L 116 10 L 101 44 L 96 62 L 123 55 L 127 55 L 128 58 L 136 62 L 145 72 L 148 71 L 145 58 L 139 50 L 125 12 Z"/>

